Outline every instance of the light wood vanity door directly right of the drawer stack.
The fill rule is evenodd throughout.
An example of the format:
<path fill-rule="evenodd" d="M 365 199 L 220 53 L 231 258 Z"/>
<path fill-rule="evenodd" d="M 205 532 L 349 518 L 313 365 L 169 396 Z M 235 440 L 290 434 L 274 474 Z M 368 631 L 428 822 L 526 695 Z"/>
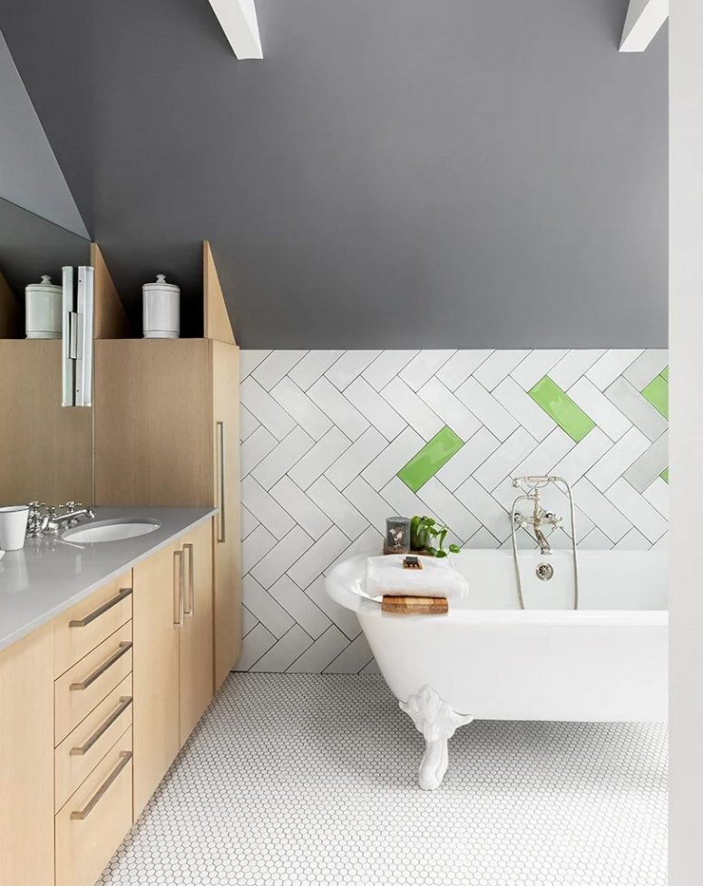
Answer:
<path fill-rule="evenodd" d="M 181 746 L 179 639 L 183 630 L 182 556 L 177 545 L 169 545 L 133 570 L 135 819 Z"/>

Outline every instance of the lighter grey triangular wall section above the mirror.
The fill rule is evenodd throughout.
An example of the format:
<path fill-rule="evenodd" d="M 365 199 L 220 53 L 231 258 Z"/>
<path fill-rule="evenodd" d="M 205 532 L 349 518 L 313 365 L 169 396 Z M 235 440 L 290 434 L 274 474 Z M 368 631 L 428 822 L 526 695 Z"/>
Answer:
<path fill-rule="evenodd" d="M 83 219 L 2 34 L 0 121 L 0 198 L 87 237 Z"/>

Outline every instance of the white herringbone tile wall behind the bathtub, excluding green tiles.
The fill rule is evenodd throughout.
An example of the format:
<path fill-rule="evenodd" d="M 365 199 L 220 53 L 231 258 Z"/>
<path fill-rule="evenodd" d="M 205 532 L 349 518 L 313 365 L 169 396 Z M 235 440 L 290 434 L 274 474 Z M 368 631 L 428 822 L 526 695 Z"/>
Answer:
<path fill-rule="evenodd" d="M 665 545 L 668 423 L 641 392 L 667 364 L 664 350 L 242 351 L 238 669 L 375 670 L 325 572 L 380 550 L 393 514 L 432 514 L 464 547 L 509 545 L 515 475 L 571 482 L 581 548 Z M 528 393 L 545 375 L 595 424 L 578 442 Z M 397 473 L 446 426 L 464 445 L 412 492 Z"/>

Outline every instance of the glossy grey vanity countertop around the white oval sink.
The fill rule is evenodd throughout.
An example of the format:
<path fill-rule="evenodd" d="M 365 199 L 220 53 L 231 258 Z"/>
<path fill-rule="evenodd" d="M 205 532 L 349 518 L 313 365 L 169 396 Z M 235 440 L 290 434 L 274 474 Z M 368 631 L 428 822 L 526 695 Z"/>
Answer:
<path fill-rule="evenodd" d="M 161 526 L 134 539 L 76 544 L 47 536 L 27 539 L 23 550 L 6 551 L 0 560 L 0 649 L 40 628 L 214 513 L 212 508 L 97 508 L 96 521 L 144 517 Z"/>

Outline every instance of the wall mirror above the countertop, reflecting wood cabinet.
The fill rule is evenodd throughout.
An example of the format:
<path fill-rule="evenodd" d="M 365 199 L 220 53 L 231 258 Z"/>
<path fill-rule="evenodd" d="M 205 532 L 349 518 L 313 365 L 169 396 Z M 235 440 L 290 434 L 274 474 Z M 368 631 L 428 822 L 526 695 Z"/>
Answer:
<path fill-rule="evenodd" d="M 91 264 L 90 241 L 0 199 L 0 506 L 93 504 L 93 409 L 62 406 L 62 341 L 25 336 L 24 287 Z"/>

